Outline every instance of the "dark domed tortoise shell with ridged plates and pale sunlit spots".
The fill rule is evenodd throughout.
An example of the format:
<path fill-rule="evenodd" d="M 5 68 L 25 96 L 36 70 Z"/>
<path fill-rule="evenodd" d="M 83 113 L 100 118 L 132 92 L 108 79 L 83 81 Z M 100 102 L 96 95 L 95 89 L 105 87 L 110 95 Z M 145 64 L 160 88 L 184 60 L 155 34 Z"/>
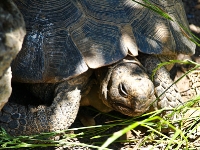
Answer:
<path fill-rule="evenodd" d="M 142 0 L 138 0 L 143 3 Z M 151 0 L 188 27 L 180 0 Z M 54 83 L 88 68 L 113 64 L 128 53 L 193 54 L 179 25 L 132 0 L 15 0 L 26 23 L 13 79 Z"/>

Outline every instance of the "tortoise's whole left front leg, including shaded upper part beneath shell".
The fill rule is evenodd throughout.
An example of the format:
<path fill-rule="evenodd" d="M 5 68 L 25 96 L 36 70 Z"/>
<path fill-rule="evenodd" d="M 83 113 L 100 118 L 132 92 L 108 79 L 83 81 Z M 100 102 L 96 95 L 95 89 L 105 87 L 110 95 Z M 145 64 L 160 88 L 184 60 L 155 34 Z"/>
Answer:
<path fill-rule="evenodd" d="M 36 96 L 45 95 L 43 98 L 47 100 L 43 101 L 46 105 L 26 107 L 8 102 L 0 112 L 0 126 L 11 135 L 31 135 L 67 129 L 76 118 L 81 91 L 87 85 L 88 77 L 83 76 L 57 84 L 31 85 L 33 92 L 39 94 Z M 53 101 L 47 104 L 51 101 L 51 96 Z"/>

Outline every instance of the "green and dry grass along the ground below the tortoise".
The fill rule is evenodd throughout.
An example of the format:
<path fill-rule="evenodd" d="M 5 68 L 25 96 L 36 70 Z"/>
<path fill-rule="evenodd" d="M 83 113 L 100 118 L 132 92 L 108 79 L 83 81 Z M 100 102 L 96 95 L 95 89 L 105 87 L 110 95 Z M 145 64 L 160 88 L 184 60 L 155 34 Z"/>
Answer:
<path fill-rule="evenodd" d="M 178 108 L 173 109 L 172 113 L 178 112 L 184 114 L 187 110 L 197 110 L 200 111 L 200 107 L 193 107 L 194 104 L 200 102 L 200 97 L 196 97 L 184 105 L 179 106 Z M 87 146 L 94 149 L 109 149 L 108 146 L 113 142 L 135 142 L 138 143 L 140 140 L 140 146 L 145 146 L 147 144 L 153 145 L 156 147 L 160 143 L 165 144 L 165 149 L 180 149 L 185 147 L 186 149 L 193 148 L 193 143 L 195 141 L 199 141 L 199 137 L 196 137 L 196 140 L 191 140 L 191 135 L 193 134 L 192 131 L 196 130 L 197 127 L 200 125 L 200 116 L 195 116 L 193 118 L 182 118 L 181 120 L 176 120 L 179 122 L 180 127 L 174 127 L 169 117 L 161 118 L 160 115 L 162 112 L 165 111 L 157 110 L 154 112 L 150 112 L 144 114 L 143 116 L 136 117 L 136 118 L 129 118 L 129 119 L 120 119 L 114 118 L 115 122 L 106 124 L 106 125 L 97 125 L 91 127 L 82 127 L 82 128 L 73 128 L 70 130 L 78 130 L 78 134 L 69 133 L 70 130 L 66 131 L 58 131 L 58 132 L 51 132 L 51 133 L 41 133 L 39 135 L 33 136 L 17 136 L 12 137 L 8 135 L 3 129 L 0 132 L 0 149 L 7 149 L 7 148 L 34 148 L 34 147 L 49 147 L 49 146 Z M 148 116 L 148 117 L 147 117 Z M 140 119 L 145 118 L 145 119 Z M 184 126 L 184 122 L 191 122 L 187 126 Z M 119 130 L 112 135 L 105 135 L 105 131 L 114 128 L 116 126 L 126 126 L 122 130 Z M 132 130 L 137 132 L 137 127 L 144 127 L 147 129 L 148 134 L 138 138 L 138 139 L 127 139 L 124 141 L 120 141 L 119 138 L 123 134 L 126 134 L 128 131 Z M 174 134 L 172 137 L 163 134 L 161 132 L 161 128 L 170 127 L 174 130 Z M 92 130 L 88 130 L 92 129 Z M 95 135 L 93 134 L 95 132 Z M 62 139 L 60 140 L 53 140 L 53 137 L 56 135 L 62 135 Z M 105 143 L 96 143 L 93 145 L 88 145 L 85 143 L 75 143 L 71 142 L 70 139 L 72 138 L 89 138 L 90 140 L 98 140 L 102 137 L 108 137 Z M 66 138 L 68 140 L 66 140 Z M 52 139 L 52 140 L 50 140 Z M 118 140 L 118 141 L 117 141 Z M 95 142 L 94 142 L 95 143 Z"/>

